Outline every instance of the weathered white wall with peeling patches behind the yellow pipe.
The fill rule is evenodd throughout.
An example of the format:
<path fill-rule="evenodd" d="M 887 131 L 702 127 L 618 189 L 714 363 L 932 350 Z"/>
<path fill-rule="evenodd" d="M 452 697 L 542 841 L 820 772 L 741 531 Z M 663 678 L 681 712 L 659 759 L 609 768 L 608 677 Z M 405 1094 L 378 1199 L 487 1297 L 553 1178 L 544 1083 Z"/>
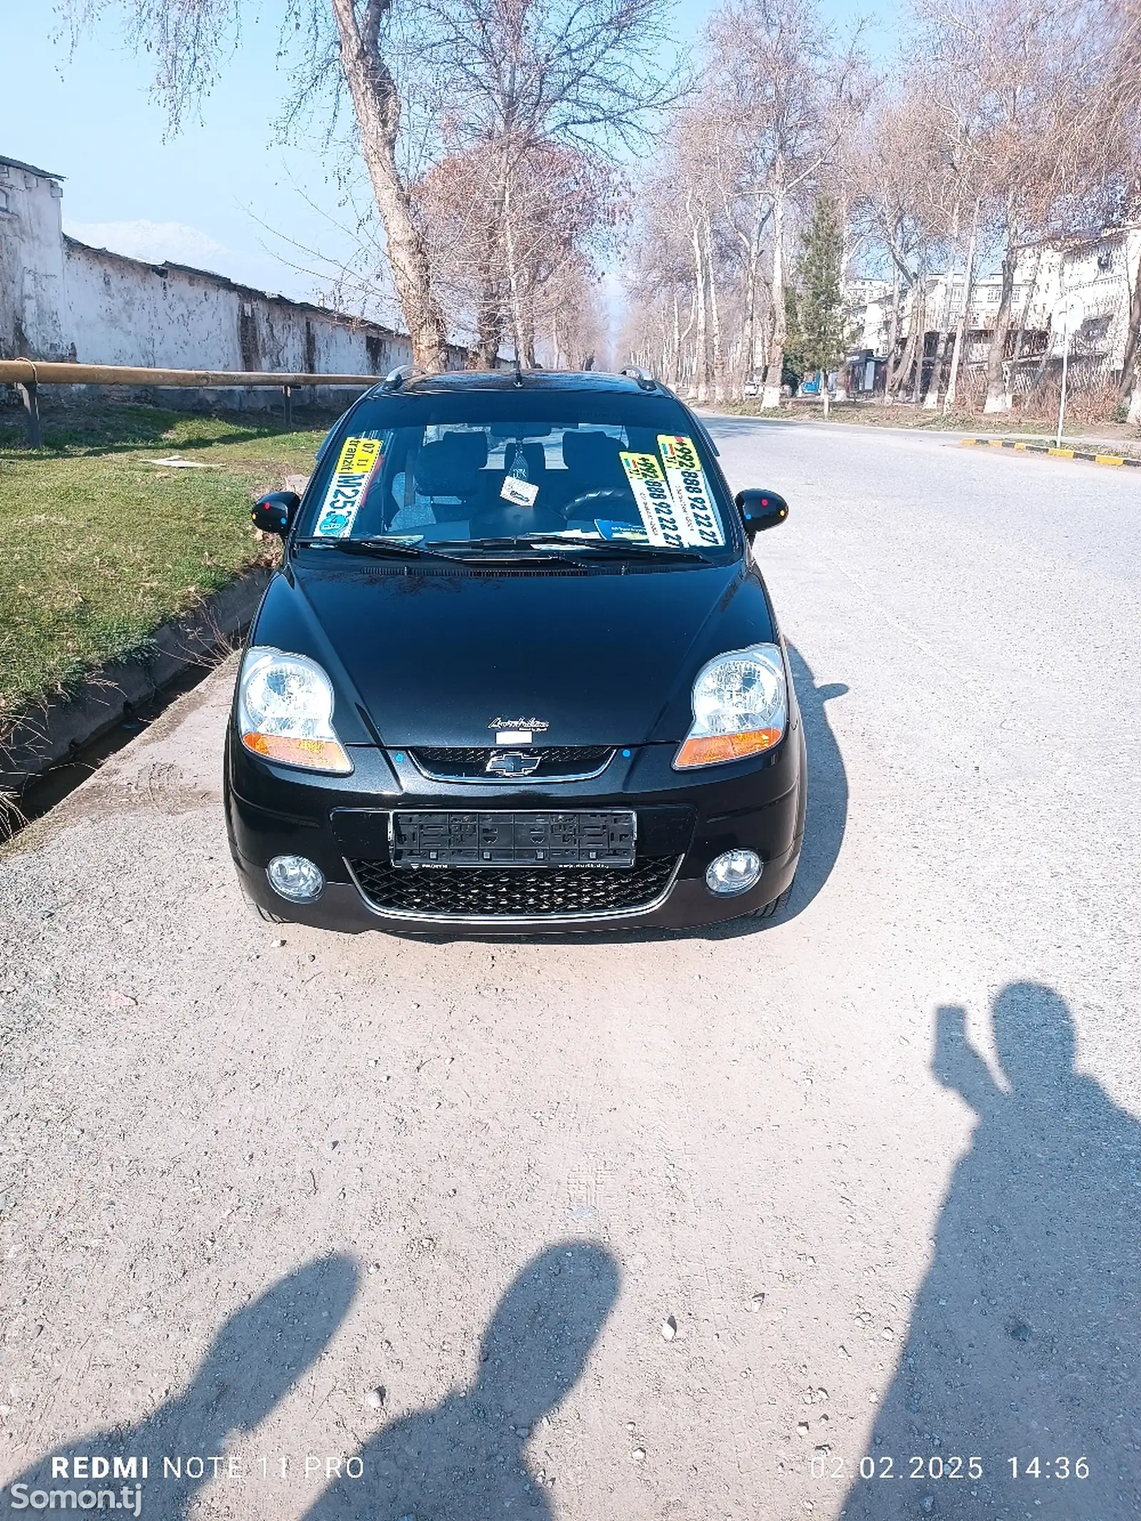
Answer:
<path fill-rule="evenodd" d="M 61 196 L 58 178 L 0 160 L 0 357 L 374 376 L 411 362 L 409 339 L 376 322 L 208 271 L 88 248 L 62 233 Z M 466 357 L 453 348 L 452 368 Z M 347 399 L 345 391 L 315 391 L 313 400 Z M 158 394 L 172 405 L 201 395 Z M 216 391 L 210 399 L 281 402 L 275 391 Z"/>

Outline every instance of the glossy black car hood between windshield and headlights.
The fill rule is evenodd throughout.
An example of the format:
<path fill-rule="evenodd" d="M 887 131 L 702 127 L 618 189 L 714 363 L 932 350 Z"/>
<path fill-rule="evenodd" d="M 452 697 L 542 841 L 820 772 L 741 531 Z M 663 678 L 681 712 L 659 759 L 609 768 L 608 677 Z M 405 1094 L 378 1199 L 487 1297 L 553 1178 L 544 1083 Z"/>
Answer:
<path fill-rule="evenodd" d="M 294 561 L 253 642 L 326 668 L 345 744 L 485 745 L 499 719 L 552 745 L 679 741 L 704 662 L 776 637 L 764 584 L 742 561 L 618 572 Z"/>

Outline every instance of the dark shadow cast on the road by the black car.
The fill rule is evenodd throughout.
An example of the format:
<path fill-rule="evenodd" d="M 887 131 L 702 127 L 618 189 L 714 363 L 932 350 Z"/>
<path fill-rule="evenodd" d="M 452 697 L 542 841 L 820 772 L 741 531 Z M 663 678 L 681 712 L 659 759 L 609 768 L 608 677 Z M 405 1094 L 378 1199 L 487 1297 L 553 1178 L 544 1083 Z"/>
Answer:
<path fill-rule="evenodd" d="M 718 925 L 697 925 L 692 929 L 601 929 L 566 931 L 564 934 L 528 935 L 525 932 L 487 931 L 484 934 L 429 934 L 408 935 L 415 940 L 431 940 L 446 945 L 455 940 L 494 943 L 511 940 L 519 943 L 542 941 L 543 945 L 656 945 L 663 940 L 736 940 L 742 935 L 762 934 L 774 925 L 796 919 L 812 902 L 840 856 L 840 847 L 847 826 L 847 771 L 840 753 L 832 724 L 828 718 L 828 703 L 847 694 L 843 681 L 817 686 L 811 666 L 794 645 L 788 645 L 788 663 L 793 668 L 800 716 L 805 726 L 808 750 L 808 806 L 805 812 L 805 841 L 800 849 L 800 865 L 788 902 L 771 919 L 727 919 Z"/>

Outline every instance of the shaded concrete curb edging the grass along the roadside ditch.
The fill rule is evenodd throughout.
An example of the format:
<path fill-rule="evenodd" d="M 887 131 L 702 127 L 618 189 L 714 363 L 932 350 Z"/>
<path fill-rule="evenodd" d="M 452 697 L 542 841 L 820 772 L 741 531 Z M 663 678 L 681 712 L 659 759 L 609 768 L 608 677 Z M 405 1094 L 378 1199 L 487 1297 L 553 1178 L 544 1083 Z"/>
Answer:
<path fill-rule="evenodd" d="M 128 707 L 149 701 L 187 668 L 213 665 L 245 634 L 272 575 L 272 566 L 256 566 L 157 628 L 145 656 L 99 666 L 72 697 L 15 718 L 0 738 L 0 791 L 18 792 L 99 739 Z"/>

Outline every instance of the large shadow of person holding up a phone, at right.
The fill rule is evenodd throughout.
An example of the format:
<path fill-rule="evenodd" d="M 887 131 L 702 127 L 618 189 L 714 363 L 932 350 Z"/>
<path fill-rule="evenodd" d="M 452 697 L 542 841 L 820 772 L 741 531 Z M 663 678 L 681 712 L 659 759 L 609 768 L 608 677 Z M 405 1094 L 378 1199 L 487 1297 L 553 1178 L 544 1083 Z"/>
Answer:
<path fill-rule="evenodd" d="M 937 1013 L 933 1071 L 978 1127 L 846 1521 L 1141 1515 L 1141 1124 L 1074 1071 L 1053 989 L 1003 989 L 993 1030 L 1007 1088 Z"/>

